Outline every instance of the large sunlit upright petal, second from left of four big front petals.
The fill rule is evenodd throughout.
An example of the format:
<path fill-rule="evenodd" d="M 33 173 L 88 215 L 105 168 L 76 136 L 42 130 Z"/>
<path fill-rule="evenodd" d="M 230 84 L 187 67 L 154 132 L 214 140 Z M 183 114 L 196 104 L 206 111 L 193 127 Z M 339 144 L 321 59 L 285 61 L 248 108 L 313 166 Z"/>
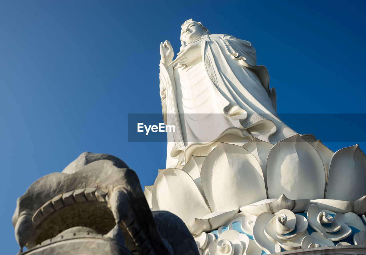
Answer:
<path fill-rule="evenodd" d="M 258 160 L 246 149 L 220 143 L 206 157 L 201 182 L 212 211 L 234 210 L 266 198 Z"/>

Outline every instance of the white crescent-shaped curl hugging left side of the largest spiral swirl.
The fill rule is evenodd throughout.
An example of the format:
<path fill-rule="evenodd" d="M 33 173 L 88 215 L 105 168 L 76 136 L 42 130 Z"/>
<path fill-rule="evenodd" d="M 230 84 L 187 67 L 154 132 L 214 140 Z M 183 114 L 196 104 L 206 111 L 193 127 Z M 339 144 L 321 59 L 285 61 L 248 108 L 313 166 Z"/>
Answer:
<path fill-rule="evenodd" d="M 253 227 L 253 239 L 267 254 L 281 252 L 279 244 L 273 243 L 264 233 L 264 227 L 273 218 L 272 213 L 259 214 Z"/>

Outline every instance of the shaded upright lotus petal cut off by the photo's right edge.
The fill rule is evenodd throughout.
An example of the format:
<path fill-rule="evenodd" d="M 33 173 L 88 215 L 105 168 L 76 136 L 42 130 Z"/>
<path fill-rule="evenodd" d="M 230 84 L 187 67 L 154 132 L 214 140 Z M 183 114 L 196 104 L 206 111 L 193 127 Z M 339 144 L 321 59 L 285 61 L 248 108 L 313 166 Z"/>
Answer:
<path fill-rule="evenodd" d="M 366 195 L 366 156 L 358 145 L 336 151 L 330 160 L 325 198 L 356 200 Z"/>

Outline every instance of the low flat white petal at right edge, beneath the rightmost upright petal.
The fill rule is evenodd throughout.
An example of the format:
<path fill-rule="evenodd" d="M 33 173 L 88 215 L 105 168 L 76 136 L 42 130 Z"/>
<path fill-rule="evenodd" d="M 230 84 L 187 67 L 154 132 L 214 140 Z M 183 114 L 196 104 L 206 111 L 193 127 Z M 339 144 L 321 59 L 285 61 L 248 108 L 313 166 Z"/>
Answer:
<path fill-rule="evenodd" d="M 335 200 L 335 199 L 315 199 L 310 201 L 311 204 L 318 206 L 320 209 L 333 211 L 335 213 L 355 213 L 362 215 L 366 213 L 366 196 L 354 201 Z"/>

